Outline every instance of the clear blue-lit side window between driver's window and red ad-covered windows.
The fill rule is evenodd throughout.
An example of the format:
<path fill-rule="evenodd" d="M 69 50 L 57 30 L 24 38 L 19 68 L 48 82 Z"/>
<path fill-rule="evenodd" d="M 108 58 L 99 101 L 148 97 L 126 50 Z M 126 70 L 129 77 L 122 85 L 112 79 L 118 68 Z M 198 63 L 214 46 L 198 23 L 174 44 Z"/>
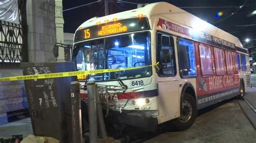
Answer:
<path fill-rule="evenodd" d="M 194 54 L 194 43 L 192 41 L 179 39 L 179 68 L 181 76 L 196 76 L 196 56 Z"/>

